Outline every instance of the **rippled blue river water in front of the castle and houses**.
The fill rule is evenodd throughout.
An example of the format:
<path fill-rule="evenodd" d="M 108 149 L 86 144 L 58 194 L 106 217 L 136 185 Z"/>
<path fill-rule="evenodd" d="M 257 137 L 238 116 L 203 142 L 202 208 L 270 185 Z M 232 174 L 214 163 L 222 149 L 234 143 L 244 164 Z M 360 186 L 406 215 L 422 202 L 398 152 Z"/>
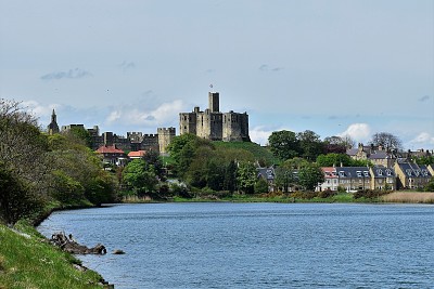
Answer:
<path fill-rule="evenodd" d="M 434 207 L 149 203 L 53 213 L 38 228 L 115 288 L 434 288 Z"/>

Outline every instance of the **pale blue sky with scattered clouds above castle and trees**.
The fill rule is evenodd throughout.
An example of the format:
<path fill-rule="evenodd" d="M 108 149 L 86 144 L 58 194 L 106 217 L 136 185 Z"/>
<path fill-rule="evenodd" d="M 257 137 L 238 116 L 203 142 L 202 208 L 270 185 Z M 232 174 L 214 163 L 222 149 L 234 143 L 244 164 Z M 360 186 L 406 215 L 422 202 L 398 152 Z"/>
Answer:
<path fill-rule="evenodd" d="M 311 130 L 434 149 L 434 1 L 0 0 L 0 97 L 42 128 L 54 108 L 60 126 L 178 133 L 208 91 L 261 145 Z"/>

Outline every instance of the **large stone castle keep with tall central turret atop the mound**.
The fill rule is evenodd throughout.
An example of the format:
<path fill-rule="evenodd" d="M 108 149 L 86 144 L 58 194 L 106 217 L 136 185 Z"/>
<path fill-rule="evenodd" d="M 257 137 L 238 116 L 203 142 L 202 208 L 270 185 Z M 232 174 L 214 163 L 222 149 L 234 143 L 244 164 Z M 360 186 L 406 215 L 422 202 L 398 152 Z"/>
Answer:
<path fill-rule="evenodd" d="M 180 134 L 191 133 L 210 141 L 250 142 L 247 113 L 219 110 L 219 93 L 209 92 L 208 108 L 205 111 L 196 106 L 192 113 L 179 114 Z"/>

